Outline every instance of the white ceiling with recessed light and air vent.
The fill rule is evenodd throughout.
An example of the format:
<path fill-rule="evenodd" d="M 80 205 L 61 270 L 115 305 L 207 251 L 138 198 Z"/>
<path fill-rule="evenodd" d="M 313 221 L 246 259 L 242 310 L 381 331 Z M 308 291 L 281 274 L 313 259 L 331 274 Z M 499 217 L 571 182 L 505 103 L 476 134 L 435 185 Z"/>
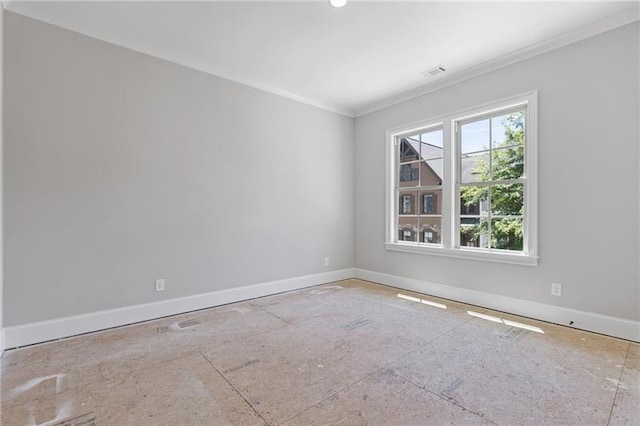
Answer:
<path fill-rule="evenodd" d="M 357 116 L 638 20 L 638 2 L 30 2 L 6 9 Z M 444 65 L 427 79 L 422 72 Z"/>

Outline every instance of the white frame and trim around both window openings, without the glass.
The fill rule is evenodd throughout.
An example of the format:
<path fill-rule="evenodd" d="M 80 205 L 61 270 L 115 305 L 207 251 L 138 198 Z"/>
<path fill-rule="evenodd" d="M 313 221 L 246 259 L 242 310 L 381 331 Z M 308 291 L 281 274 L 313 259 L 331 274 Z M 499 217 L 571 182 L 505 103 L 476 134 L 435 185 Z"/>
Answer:
<path fill-rule="evenodd" d="M 491 115 L 519 105 L 526 105 L 525 168 L 524 179 L 524 240 L 523 250 L 509 251 L 482 249 L 459 245 L 460 182 L 457 172 L 458 150 L 456 128 L 458 123 Z M 442 236 L 441 244 L 398 241 L 396 179 L 398 162 L 396 144 L 399 138 L 442 127 L 444 141 L 444 165 L 442 184 Z M 385 140 L 386 155 L 386 237 L 385 248 L 391 251 L 446 256 L 489 262 L 536 266 L 538 264 L 538 93 L 527 92 L 518 96 L 479 105 L 464 111 L 422 120 L 405 126 L 388 129 Z M 422 207 L 422 206 L 419 206 Z"/>

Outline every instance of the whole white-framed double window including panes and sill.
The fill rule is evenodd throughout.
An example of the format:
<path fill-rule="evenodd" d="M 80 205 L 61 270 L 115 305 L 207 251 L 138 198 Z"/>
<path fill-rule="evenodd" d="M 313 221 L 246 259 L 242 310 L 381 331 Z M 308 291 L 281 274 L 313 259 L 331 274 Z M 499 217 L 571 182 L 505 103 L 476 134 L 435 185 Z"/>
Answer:
<path fill-rule="evenodd" d="M 536 109 L 531 92 L 389 130 L 387 249 L 535 265 Z"/>

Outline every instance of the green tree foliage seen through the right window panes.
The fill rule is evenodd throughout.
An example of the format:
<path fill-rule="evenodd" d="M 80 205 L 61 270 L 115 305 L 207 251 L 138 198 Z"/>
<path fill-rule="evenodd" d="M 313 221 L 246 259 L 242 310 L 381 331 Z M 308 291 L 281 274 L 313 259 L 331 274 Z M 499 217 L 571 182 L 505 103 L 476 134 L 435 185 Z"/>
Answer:
<path fill-rule="evenodd" d="M 518 112 L 506 117 L 504 140 L 493 146 L 492 159 L 489 151 L 477 156 L 473 174 L 478 181 L 508 181 L 524 175 L 524 114 Z M 481 201 L 491 200 L 491 247 L 505 250 L 522 250 L 523 226 L 520 218 L 500 216 L 524 215 L 524 188 L 520 183 L 488 186 L 466 186 L 461 188 L 461 199 L 465 206 L 479 206 Z M 478 209 L 476 211 L 479 211 Z M 473 226 L 462 226 L 462 240 L 471 241 L 489 233 L 489 221 L 479 220 Z"/>

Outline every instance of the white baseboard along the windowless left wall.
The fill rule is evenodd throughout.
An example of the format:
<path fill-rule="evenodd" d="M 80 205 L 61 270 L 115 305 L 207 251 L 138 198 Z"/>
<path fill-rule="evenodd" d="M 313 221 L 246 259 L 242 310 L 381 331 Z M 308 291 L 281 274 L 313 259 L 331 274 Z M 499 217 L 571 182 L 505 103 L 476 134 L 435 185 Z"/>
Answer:
<path fill-rule="evenodd" d="M 353 268 L 341 269 L 338 271 L 323 272 L 320 274 L 305 275 L 302 277 L 163 300 L 161 302 L 127 306 L 125 308 L 109 309 L 49 321 L 5 327 L 4 330 L 2 330 L 5 338 L 5 345 L 3 347 L 8 349 L 46 342 L 63 337 L 162 318 L 169 315 L 345 280 L 353 278 L 353 276 Z"/>

